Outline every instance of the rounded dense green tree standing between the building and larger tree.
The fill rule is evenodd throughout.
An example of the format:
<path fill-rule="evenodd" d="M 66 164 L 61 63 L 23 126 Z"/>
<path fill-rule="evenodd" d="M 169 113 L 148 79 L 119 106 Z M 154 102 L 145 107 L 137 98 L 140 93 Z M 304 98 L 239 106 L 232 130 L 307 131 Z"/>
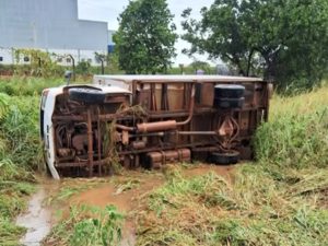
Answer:
<path fill-rule="evenodd" d="M 177 39 L 166 0 L 130 1 L 114 35 L 119 67 L 127 73 L 165 72 Z"/>

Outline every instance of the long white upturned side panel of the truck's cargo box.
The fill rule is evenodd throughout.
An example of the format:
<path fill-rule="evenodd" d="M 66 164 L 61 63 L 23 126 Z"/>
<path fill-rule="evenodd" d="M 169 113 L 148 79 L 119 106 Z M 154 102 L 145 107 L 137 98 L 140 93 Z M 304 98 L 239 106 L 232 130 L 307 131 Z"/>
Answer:
<path fill-rule="evenodd" d="M 144 82 L 261 82 L 261 78 L 227 75 L 94 75 L 98 80 Z"/>

